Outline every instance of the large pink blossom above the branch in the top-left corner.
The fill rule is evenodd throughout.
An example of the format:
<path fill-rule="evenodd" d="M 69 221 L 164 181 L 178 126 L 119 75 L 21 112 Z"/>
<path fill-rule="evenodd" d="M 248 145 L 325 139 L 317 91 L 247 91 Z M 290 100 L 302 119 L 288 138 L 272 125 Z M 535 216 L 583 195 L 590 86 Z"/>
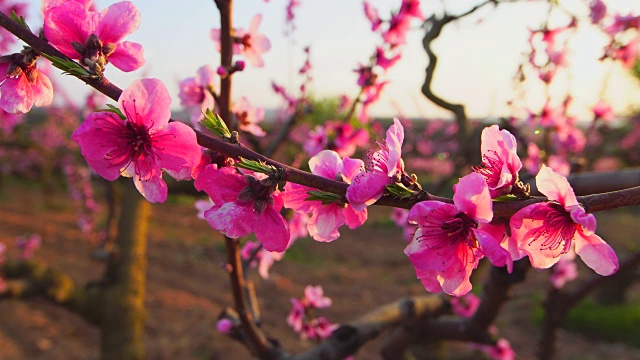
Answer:
<path fill-rule="evenodd" d="M 111 62 L 129 72 L 144 65 L 142 45 L 122 39 L 140 26 L 140 13 L 129 1 L 112 4 L 101 12 L 86 2 L 67 1 L 44 13 L 47 40 L 72 59 L 101 74 Z"/>

